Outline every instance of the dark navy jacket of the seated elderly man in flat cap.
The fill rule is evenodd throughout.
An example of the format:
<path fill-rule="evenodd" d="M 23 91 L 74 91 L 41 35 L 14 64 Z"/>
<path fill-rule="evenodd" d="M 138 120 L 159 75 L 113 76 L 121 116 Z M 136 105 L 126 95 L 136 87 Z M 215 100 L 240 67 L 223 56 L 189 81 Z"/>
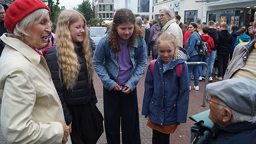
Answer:
<path fill-rule="evenodd" d="M 240 122 L 227 127 L 214 124 L 213 130 L 217 136 L 212 137 L 212 134 L 209 134 L 201 144 L 251 144 L 256 142 L 256 123 Z"/>

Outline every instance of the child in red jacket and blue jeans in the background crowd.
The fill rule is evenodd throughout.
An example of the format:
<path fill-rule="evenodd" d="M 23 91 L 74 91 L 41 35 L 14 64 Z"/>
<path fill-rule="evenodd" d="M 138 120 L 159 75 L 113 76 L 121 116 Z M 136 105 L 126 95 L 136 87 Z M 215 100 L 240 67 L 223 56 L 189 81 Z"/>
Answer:
<path fill-rule="evenodd" d="M 209 82 L 213 81 L 212 77 L 212 69 L 210 68 L 210 51 L 212 51 L 212 48 L 214 47 L 214 41 L 213 38 L 208 35 L 209 33 L 209 27 L 204 26 L 202 28 L 203 34 L 201 35 L 202 41 L 208 43 L 207 44 L 207 55 L 201 57 L 201 61 L 206 62 L 209 66 Z M 203 70 L 203 71 L 202 71 Z M 206 67 L 203 65 L 199 65 L 199 80 L 205 79 L 206 75 Z"/>

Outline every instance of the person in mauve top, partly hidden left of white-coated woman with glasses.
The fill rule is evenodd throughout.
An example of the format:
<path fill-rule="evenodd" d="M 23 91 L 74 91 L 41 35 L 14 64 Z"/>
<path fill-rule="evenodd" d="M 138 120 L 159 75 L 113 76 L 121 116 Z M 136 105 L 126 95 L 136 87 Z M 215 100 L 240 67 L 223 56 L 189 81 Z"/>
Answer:
<path fill-rule="evenodd" d="M 150 46 L 151 46 L 151 51 L 152 51 L 152 60 L 158 59 L 158 50 L 157 47 L 155 46 L 155 41 L 158 38 L 158 35 L 161 31 L 161 28 L 158 24 L 158 21 L 154 20 L 153 25 L 150 28 Z"/>

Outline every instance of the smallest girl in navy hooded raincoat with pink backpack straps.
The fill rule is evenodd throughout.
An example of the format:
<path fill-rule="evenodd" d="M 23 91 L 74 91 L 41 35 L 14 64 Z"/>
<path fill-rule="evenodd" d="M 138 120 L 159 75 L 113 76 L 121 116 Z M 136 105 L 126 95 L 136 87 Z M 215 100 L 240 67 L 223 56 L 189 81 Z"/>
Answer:
<path fill-rule="evenodd" d="M 142 115 L 152 128 L 152 144 L 169 143 L 170 134 L 186 123 L 189 99 L 187 51 L 177 45 L 173 34 L 158 38 L 159 57 L 147 69 Z"/>

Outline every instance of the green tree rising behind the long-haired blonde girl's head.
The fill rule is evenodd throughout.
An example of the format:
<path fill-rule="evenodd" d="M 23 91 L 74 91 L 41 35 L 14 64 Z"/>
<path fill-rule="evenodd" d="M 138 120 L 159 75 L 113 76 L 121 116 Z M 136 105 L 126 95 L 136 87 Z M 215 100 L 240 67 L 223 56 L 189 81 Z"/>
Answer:
<path fill-rule="evenodd" d="M 83 16 L 86 18 L 86 21 L 92 19 L 92 7 L 89 0 L 83 0 L 81 4 L 78 4 L 77 10 L 83 14 Z"/>

